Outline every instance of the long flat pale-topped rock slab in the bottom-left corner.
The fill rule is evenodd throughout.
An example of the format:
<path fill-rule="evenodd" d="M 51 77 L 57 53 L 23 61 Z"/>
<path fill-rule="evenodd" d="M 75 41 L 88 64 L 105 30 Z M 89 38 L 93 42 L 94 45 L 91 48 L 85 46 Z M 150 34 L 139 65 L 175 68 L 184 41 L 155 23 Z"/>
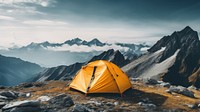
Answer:
<path fill-rule="evenodd" d="M 7 110 L 15 107 L 39 107 L 40 103 L 37 100 L 24 100 L 24 101 L 16 101 L 10 102 L 9 104 L 5 105 L 2 109 Z"/>

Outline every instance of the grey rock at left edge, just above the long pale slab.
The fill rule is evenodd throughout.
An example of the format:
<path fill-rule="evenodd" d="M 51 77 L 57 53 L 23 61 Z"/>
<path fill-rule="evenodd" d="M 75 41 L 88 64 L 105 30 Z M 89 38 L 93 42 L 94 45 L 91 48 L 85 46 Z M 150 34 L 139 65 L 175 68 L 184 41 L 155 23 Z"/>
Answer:
<path fill-rule="evenodd" d="M 16 99 L 18 97 L 18 93 L 15 91 L 1 91 L 0 95 L 5 96 L 9 99 Z"/>

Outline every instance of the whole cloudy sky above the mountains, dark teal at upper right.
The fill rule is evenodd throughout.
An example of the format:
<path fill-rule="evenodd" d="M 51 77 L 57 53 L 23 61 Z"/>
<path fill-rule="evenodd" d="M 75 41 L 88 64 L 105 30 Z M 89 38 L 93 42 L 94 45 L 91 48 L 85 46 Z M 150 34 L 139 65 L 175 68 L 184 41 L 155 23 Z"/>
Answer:
<path fill-rule="evenodd" d="M 199 0 L 0 0 L 0 47 L 64 42 L 155 43 L 185 26 L 200 32 Z"/>

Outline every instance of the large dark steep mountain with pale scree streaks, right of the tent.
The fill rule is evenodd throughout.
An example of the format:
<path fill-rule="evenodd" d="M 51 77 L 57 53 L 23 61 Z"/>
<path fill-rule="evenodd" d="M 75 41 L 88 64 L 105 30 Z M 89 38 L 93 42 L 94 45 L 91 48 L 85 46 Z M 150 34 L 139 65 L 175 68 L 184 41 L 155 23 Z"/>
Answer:
<path fill-rule="evenodd" d="M 148 53 L 123 67 L 131 77 L 153 77 L 175 85 L 199 84 L 200 41 L 189 26 L 164 36 Z"/>

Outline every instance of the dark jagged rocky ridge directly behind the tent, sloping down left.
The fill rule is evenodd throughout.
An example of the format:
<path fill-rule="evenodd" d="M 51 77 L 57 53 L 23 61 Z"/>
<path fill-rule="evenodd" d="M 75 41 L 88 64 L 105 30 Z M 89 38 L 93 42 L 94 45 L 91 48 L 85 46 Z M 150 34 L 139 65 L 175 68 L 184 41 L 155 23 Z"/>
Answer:
<path fill-rule="evenodd" d="M 100 55 L 94 56 L 87 62 L 84 63 L 75 63 L 69 66 L 58 66 L 52 67 L 44 70 L 39 73 L 37 77 L 35 77 L 32 81 L 48 81 L 48 80 L 66 80 L 71 79 L 78 70 L 81 69 L 83 65 L 86 65 L 89 62 L 95 60 L 108 60 L 110 62 L 115 63 L 118 66 L 124 66 L 129 60 L 125 60 L 124 56 L 119 51 L 114 51 L 110 49 L 101 53 Z"/>

